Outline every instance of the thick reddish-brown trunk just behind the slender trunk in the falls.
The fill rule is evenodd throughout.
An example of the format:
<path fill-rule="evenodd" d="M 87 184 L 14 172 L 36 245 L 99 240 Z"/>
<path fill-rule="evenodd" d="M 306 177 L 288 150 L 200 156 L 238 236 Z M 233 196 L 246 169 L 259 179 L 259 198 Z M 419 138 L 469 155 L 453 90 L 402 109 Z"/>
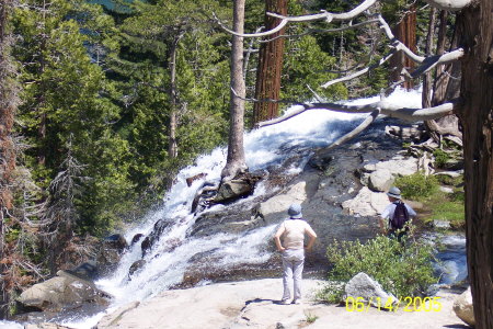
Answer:
<path fill-rule="evenodd" d="M 265 0 L 265 12 L 287 15 L 287 0 Z M 265 14 L 265 30 L 272 30 L 280 22 L 279 19 Z M 270 36 L 274 38 L 284 34 L 284 29 Z M 256 70 L 255 99 L 278 100 L 280 94 L 280 73 L 283 70 L 284 38 L 263 43 L 259 54 Z M 267 121 L 279 115 L 279 104 L 257 102 L 253 105 L 253 124 Z"/>

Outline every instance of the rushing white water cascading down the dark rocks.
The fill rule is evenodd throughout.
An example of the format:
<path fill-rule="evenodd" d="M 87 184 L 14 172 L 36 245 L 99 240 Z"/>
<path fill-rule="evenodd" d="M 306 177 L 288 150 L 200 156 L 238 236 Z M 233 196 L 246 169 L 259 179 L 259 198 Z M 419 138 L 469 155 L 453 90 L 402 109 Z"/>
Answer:
<path fill-rule="evenodd" d="M 378 98 L 362 99 L 349 102 L 365 104 Z M 390 102 L 405 106 L 421 106 L 421 93 L 397 90 L 389 98 Z M 293 111 L 290 109 L 288 111 Z M 246 164 L 251 171 L 280 163 L 289 155 L 283 149 L 291 147 L 310 147 L 329 145 L 342 134 L 354 128 L 363 117 L 362 114 L 334 113 L 324 110 L 310 110 L 284 123 L 246 133 L 244 147 Z M 211 154 L 199 157 L 194 166 L 183 169 L 176 183 L 165 196 L 164 205 L 149 214 L 139 226 L 129 229 L 125 237 L 130 240 L 136 234 L 148 235 L 159 219 L 171 224 L 160 237 L 159 242 L 146 254 L 145 266 L 128 280 L 130 265 L 141 258 L 140 243 L 136 243 L 122 259 L 118 269 L 111 277 L 96 282 L 96 285 L 114 296 L 107 311 L 133 300 L 152 297 L 170 286 L 180 283 L 192 257 L 204 252 L 208 257 L 220 259 L 219 264 L 231 266 L 236 263 L 263 263 L 270 254 L 263 250 L 271 239 L 275 226 L 262 227 L 246 234 L 217 234 L 211 237 L 187 238 L 187 230 L 194 225 L 190 214 L 195 192 L 207 181 L 219 181 L 220 171 L 226 163 L 226 148 L 217 148 Z M 287 172 L 301 171 L 301 168 L 286 168 Z M 186 178 L 206 173 L 204 179 L 187 186 Z M 262 193 L 257 188 L 255 194 Z M 221 207 L 220 205 L 214 208 Z M 206 283 L 204 283 L 206 284 Z M 87 319 L 67 319 L 65 325 L 72 328 L 91 328 L 104 313 Z"/>

